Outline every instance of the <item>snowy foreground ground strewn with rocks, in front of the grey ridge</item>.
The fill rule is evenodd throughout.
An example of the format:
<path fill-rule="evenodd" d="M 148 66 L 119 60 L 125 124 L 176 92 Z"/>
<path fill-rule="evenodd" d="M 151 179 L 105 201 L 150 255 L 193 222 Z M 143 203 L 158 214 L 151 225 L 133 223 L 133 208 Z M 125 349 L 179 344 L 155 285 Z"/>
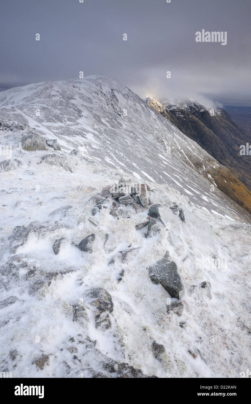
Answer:
<path fill-rule="evenodd" d="M 95 208 L 102 187 L 126 174 L 81 154 L 25 151 L 19 147 L 25 130 L 4 129 L 13 144 L 10 161 L 19 165 L 1 172 L 2 371 L 78 378 L 245 372 L 251 330 L 247 215 L 220 191 L 205 208 L 190 194 L 151 181 L 149 206 L 123 206 L 108 193 Z M 197 177 L 193 188 L 199 189 Z M 159 224 L 159 232 L 146 237 L 150 222 L 141 230 L 135 225 L 148 221 L 156 204 L 165 227 Z M 81 250 L 89 236 L 92 249 Z M 177 265 L 185 288 L 180 300 L 162 286 L 168 278 L 151 280 L 149 267 L 159 260 Z M 167 312 L 170 304 L 181 305 L 180 315 Z"/>

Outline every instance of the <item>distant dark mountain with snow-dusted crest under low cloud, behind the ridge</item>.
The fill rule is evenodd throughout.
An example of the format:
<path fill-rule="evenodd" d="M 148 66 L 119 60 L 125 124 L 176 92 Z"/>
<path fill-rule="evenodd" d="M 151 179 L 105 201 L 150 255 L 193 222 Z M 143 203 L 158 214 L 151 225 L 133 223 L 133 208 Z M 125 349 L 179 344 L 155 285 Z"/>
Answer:
<path fill-rule="evenodd" d="M 157 109 L 153 99 L 148 99 L 148 105 Z M 251 189 L 251 160 L 249 156 L 240 156 L 240 145 L 246 144 L 249 138 L 226 111 L 206 108 L 190 100 L 177 104 L 165 101 L 165 105 L 158 105 L 158 109 L 160 114 Z"/>

